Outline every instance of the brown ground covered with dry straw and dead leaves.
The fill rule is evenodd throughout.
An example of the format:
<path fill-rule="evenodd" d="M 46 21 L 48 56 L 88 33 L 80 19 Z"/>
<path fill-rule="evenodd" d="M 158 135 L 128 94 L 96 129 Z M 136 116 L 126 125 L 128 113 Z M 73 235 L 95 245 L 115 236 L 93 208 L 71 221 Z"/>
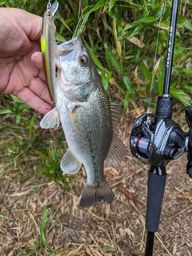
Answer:
<path fill-rule="evenodd" d="M 125 161 L 115 169 L 105 169 L 114 180 L 113 183 L 107 177 L 116 196 L 111 205 L 98 204 L 90 209 L 78 206 L 86 182 L 83 169 L 67 191 L 54 181 L 46 182 L 45 177 L 40 177 L 38 185 L 34 185 L 35 177 L 24 184 L 9 176 L 0 177 L 0 214 L 7 217 L 0 217 L 1 256 L 49 254 L 50 249 L 46 246 L 39 250 L 42 213 L 46 205 L 52 205 L 54 210 L 47 223 L 46 242 L 56 255 L 144 255 L 149 166 L 138 165 L 130 153 L 130 131 L 136 118 L 135 111 L 125 114 L 117 130 L 127 147 Z M 166 171 L 166 191 L 159 230 L 154 238 L 154 256 L 190 256 L 192 179 L 186 175 L 186 155 L 171 161 Z M 130 201 L 118 185 L 142 203 Z"/>

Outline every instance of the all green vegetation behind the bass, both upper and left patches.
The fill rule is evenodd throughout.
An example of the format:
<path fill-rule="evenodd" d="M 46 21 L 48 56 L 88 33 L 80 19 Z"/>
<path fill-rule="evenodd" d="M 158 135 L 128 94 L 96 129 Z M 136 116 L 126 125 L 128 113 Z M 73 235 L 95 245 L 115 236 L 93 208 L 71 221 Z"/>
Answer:
<path fill-rule="evenodd" d="M 149 107 L 150 96 L 154 111 L 157 97 L 162 94 L 171 1 L 58 2 L 56 37 L 63 42 L 82 34 L 110 99 L 122 101 L 126 112 L 133 108 L 139 112 L 138 106 Z M 0 6 L 42 16 L 46 4 L 45 0 L 5 0 Z M 180 1 L 170 85 L 179 111 L 192 103 L 191 10 L 189 0 Z M 35 176 L 38 183 L 42 173 L 67 189 L 70 177 L 62 176 L 59 168 L 66 148 L 62 129 L 42 130 L 38 125 L 41 118 L 14 96 L 0 95 L 0 175 L 11 171 L 19 182 Z M 46 212 L 43 216 L 46 219 Z M 45 226 L 42 221 L 41 246 Z"/>

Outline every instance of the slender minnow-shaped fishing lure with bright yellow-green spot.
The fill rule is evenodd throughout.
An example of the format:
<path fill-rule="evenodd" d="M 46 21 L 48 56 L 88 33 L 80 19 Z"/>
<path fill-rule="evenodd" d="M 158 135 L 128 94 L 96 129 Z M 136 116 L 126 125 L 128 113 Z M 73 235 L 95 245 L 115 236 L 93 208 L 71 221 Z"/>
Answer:
<path fill-rule="evenodd" d="M 43 67 L 50 99 L 54 103 L 55 84 L 55 43 L 54 43 L 54 14 L 58 10 L 58 2 L 46 9 L 42 18 L 41 48 Z"/>

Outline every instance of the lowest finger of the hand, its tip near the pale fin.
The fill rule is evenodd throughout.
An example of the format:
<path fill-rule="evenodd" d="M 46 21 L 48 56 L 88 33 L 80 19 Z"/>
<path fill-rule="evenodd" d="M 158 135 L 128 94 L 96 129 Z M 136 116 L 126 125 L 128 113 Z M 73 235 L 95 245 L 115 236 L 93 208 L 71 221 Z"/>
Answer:
<path fill-rule="evenodd" d="M 30 91 L 28 87 L 24 87 L 22 91 L 18 91 L 14 95 L 42 114 L 46 114 L 52 108 L 45 100 L 42 100 L 33 91 Z"/>

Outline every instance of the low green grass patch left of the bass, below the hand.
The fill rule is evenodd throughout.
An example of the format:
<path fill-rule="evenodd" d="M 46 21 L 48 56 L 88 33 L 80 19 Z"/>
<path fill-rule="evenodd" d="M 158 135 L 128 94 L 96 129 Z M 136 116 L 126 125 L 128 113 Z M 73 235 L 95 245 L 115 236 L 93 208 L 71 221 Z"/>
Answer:
<path fill-rule="evenodd" d="M 62 129 L 55 132 L 55 138 L 51 138 L 49 132 L 46 137 L 42 136 L 37 114 L 26 104 L 12 95 L 6 95 L 3 104 L 0 114 L 6 114 L 6 120 L 2 120 L 0 127 L 0 151 L 5 155 L 1 160 L 2 169 L 7 171 L 19 167 L 15 177 L 19 181 L 26 181 L 34 175 L 32 167 L 35 166 L 49 180 L 68 188 L 70 177 L 63 175 L 59 166 L 60 157 L 65 151 Z M 7 121 L 9 125 L 6 127 Z"/>

